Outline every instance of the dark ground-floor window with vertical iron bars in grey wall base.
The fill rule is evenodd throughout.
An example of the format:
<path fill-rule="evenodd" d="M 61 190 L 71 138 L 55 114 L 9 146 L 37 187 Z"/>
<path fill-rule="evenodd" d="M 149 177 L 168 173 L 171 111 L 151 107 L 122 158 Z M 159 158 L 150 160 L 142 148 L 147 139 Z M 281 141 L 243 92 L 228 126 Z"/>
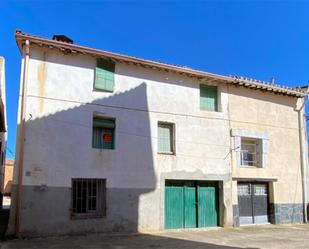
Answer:
<path fill-rule="evenodd" d="M 105 215 L 105 179 L 72 179 L 72 215 L 77 217 Z"/>

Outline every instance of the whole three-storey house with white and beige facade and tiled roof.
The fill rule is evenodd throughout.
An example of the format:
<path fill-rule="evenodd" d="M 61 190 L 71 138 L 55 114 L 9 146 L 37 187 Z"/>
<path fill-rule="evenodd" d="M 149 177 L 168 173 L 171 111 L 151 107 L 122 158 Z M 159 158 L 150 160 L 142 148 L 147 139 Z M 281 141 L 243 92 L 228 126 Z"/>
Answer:
<path fill-rule="evenodd" d="M 303 222 L 306 93 L 16 32 L 9 233 Z"/>

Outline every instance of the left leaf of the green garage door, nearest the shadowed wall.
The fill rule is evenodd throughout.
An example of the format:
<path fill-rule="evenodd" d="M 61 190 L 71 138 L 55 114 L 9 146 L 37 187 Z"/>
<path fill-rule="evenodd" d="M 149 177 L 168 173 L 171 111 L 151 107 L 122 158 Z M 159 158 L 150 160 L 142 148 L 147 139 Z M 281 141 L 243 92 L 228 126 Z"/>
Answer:
<path fill-rule="evenodd" d="M 184 188 L 182 186 L 165 187 L 165 215 L 166 229 L 182 228 L 184 225 Z"/>

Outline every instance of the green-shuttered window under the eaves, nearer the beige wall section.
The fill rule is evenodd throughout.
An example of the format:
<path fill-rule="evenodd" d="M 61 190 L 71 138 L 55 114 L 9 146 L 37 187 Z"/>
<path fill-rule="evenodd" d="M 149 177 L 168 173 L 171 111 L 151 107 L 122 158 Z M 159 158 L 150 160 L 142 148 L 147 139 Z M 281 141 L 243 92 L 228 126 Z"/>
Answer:
<path fill-rule="evenodd" d="M 218 111 L 218 90 L 216 86 L 200 85 L 200 108 Z"/>

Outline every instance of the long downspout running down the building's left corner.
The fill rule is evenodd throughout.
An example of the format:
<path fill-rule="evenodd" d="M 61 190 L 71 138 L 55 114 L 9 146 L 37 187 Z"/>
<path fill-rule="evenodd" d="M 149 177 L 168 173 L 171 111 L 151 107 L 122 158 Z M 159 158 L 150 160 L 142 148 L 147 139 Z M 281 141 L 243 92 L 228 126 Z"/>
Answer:
<path fill-rule="evenodd" d="M 24 144 L 25 144 L 25 124 L 26 124 L 26 100 L 27 100 L 27 78 L 28 78 L 28 64 L 29 64 L 29 48 L 30 42 L 26 40 L 23 57 L 24 57 L 24 68 L 23 68 L 23 81 L 21 91 L 21 109 L 20 109 L 20 133 L 19 133 L 19 147 L 18 147 L 18 183 L 17 183 L 17 194 L 16 194 L 16 218 L 15 218 L 15 235 L 20 235 L 20 210 L 21 210 L 21 191 L 23 181 L 23 160 L 24 160 Z"/>

